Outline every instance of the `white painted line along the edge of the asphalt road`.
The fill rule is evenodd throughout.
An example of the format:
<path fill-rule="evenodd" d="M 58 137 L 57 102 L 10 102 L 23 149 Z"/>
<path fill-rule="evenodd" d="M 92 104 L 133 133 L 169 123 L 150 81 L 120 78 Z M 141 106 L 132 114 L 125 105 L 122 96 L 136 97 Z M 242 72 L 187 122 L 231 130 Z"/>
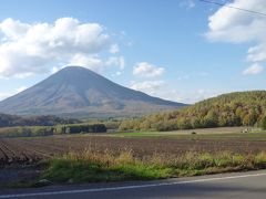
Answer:
<path fill-rule="evenodd" d="M 23 198 L 23 197 L 53 196 L 53 195 L 65 195 L 65 193 L 101 192 L 101 191 L 112 191 L 112 190 L 140 189 L 140 188 L 162 187 L 162 186 L 172 186 L 172 185 L 196 184 L 196 182 L 205 182 L 205 181 L 217 181 L 217 180 L 238 179 L 238 178 L 259 177 L 259 176 L 266 176 L 266 172 L 242 175 L 242 176 L 203 178 L 197 180 L 185 180 L 185 181 L 173 181 L 173 182 L 161 182 L 161 184 L 146 184 L 146 185 L 105 187 L 105 188 L 103 187 L 103 188 L 80 189 L 80 190 L 31 192 L 31 193 L 2 195 L 2 196 L 0 195 L 0 198 Z"/>

